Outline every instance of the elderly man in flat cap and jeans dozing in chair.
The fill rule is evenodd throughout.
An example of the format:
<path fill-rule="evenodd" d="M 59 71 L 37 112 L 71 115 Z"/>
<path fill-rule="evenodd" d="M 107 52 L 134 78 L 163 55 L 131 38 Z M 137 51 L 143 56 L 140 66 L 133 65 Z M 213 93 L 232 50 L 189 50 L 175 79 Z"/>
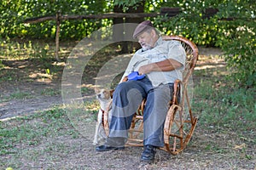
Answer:
<path fill-rule="evenodd" d="M 109 136 L 105 144 L 96 146 L 96 151 L 125 148 L 132 116 L 143 99 L 147 99 L 143 112 L 141 161 L 152 162 L 156 148 L 164 146 L 163 127 L 172 99 L 173 82 L 182 79 L 185 52 L 180 42 L 163 41 L 149 20 L 137 26 L 133 37 L 142 48 L 127 66 L 123 78 L 128 76 L 128 81 L 120 82 L 113 93 Z"/>

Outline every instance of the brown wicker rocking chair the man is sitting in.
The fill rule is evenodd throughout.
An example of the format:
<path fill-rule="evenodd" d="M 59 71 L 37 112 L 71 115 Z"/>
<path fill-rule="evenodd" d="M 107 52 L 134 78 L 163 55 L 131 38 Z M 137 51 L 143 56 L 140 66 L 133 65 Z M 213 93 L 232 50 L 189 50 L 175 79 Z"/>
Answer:
<path fill-rule="evenodd" d="M 172 155 L 177 155 L 189 144 L 197 123 L 197 118 L 193 116 L 189 103 L 188 85 L 189 78 L 194 71 L 198 59 L 198 48 L 194 42 L 189 41 L 185 37 L 164 36 L 162 38 L 166 41 L 176 40 L 181 42 L 186 52 L 183 80 L 176 80 L 174 82 L 173 98 L 170 101 L 170 108 L 167 112 L 164 126 L 165 146 L 160 148 L 170 152 Z M 123 81 L 127 81 L 127 78 Z M 142 105 L 139 106 L 134 114 L 129 130 L 129 138 L 125 145 L 143 146 L 143 110 L 146 103 L 147 101 L 144 99 Z M 104 113 L 103 127 L 108 135 L 108 111 Z"/>

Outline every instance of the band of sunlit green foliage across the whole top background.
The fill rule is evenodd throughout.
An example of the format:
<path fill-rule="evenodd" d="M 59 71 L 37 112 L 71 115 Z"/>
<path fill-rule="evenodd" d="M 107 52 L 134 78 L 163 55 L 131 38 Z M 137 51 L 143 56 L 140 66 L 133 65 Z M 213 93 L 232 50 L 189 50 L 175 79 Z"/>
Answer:
<path fill-rule="evenodd" d="M 224 59 L 228 62 L 231 75 L 241 85 L 255 85 L 255 8 L 252 0 L 14 0 L 3 1 L 0 6 L 1 37 L 54 38 L 55 21 L 38 24 L 24 24 L 32 17 L 60 14 L 103 14 L 119 6 L 126 11 L 144 4 L 144 12 L 160 12 L 161 7 L 181 8 L 176 17 L 160 16 L 154 19 L 156 26 L 164 34 L 176 34 L 188 37 L 197 45 L 222 48 Z M 218 9 L 209 15 L 208 9 Z M 210 11 L 211 12 L 211 11 Z M 228 19 L 228 20 L 226 20 Z M 90 35 L 100 27 L 110 26 L 108 20 L 63 20 L 61 22 L 61 40 L 79 40 Z"/>

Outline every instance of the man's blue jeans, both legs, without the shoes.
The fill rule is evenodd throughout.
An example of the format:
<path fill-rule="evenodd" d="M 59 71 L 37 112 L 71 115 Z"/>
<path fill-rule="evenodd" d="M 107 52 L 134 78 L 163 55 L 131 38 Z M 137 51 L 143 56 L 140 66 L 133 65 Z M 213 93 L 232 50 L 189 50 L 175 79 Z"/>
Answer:
<path fill-rule="evenodd" d="M 143 112 L 143 144 L 164 146 L 163 127 L 172 99 L 173 83 L 154 88 L 148 77 L 138 81 L 121 82 L 114 90 L 112 121 L 109 137 L 128 138 L 133 115 L 143 99 L 147 104 Z"/>

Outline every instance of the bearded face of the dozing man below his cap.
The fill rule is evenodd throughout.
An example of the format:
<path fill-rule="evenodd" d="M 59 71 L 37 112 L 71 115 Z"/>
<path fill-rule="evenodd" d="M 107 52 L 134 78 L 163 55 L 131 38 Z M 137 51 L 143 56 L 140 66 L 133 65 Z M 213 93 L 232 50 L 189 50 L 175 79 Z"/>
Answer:
<path fill-rule="evenodd" d="M 138 42 L 141 44 L 143 50 L 148 50 L 150 48 L 154 48 L 154 35 L 153 31 L 144 31 L 140 35 L 137 36 Z"/>

